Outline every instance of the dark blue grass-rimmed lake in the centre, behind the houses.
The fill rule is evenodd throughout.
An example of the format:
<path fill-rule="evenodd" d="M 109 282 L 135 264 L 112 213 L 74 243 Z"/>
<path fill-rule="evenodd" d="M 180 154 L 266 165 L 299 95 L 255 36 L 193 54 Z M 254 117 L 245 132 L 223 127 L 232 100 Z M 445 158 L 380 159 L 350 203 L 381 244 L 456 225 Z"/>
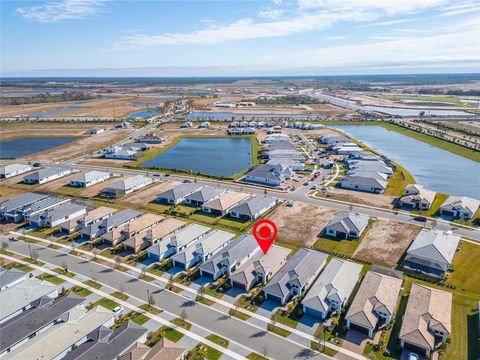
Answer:
<path fill-rule="evenodd" d="M 229 177 L 252 166 L 249 138 L 186 138 L 141 167 Z"/>

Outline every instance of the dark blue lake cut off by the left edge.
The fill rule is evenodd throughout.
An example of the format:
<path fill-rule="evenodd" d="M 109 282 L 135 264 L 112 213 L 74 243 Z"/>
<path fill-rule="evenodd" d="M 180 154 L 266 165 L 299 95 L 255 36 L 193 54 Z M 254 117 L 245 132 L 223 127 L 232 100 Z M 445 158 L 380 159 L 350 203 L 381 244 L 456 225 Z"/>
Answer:
<path fill-rule="evenodd" d="M 78 140 L 76 137 L 31 137 L 0 141 L 0 158 L 18 158 Z"/>

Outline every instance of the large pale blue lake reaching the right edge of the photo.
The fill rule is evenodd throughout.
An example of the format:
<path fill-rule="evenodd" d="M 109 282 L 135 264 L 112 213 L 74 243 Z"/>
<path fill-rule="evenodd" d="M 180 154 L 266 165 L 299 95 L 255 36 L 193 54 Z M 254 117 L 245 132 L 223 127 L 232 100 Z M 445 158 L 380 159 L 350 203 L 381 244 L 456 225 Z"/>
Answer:
<path fill-rule="evenodd" d="M 480 199 L 480 163 L 378 125 L 335 125 L 405 167 L 437 192 Z"/>

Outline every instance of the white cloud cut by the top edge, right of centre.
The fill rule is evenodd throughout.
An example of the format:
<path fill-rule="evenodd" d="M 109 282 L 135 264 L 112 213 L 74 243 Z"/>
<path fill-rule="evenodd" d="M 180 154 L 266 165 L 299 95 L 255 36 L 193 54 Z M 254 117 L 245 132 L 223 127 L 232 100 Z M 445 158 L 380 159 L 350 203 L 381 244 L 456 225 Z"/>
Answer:
<path fill-rule="evenodd" d="M 448 0 L 298 0 L 301 9 L 380 10 L 387 15 L 411 13 Z"/>

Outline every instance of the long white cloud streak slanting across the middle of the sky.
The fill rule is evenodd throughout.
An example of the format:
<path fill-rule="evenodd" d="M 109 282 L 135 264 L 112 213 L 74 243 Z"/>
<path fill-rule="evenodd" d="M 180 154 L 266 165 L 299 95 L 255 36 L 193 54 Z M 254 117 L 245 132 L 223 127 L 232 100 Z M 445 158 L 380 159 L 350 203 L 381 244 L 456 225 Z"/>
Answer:
<path fill-rule="evenodd" d="M 124 50 L 159 45 L 213 45 L 232 40 L 247 40 L 288 36 L 297 33 L 318 31 L 331 27 L 339 21 L 366 21 L 376 17 L 369 12 L 351 11 L 309 12 L 297 14 L 290 19 L 255 22 L 245 18 L 226 25 L 212 25 L 191 33 L 163 33 L 159 35 L 125 35 L 112 47 Z"/>

